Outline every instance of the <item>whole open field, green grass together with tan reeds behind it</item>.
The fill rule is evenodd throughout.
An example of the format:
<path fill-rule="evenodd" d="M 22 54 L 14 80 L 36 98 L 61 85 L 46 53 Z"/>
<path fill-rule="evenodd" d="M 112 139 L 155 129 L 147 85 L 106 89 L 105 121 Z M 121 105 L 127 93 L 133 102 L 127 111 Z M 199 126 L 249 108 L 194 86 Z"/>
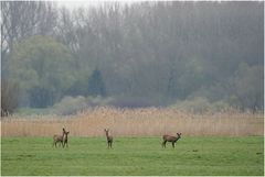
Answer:
<path fill-rule="evenodd" d="M 97 108 L 1 120 L 1 175 L 264 175 L 262 113 Z M 70 131 L 68 148 L 52 136 Z M 106 145 L 104 129 L 114 136 Z M 182 133 L 173 150 L 161 135 Z"/>

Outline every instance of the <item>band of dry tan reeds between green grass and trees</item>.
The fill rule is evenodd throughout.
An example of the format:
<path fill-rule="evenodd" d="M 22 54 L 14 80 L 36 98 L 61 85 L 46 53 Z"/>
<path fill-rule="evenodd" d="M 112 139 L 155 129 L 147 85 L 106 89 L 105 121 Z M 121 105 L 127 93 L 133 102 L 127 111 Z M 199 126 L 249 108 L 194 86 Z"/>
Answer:
<path fill-rule="evenodd" d="M 70 130 L 71 136 L 104 136 L 110 129 L 114 136 L 160 136 L 182 132 L 188 136 L 263 135 L 262 113 L 192 114 L 174 109 L 97 108 L 72 117 L 12 117 L 1 121 L 1 136 L 52 136 Z"/>

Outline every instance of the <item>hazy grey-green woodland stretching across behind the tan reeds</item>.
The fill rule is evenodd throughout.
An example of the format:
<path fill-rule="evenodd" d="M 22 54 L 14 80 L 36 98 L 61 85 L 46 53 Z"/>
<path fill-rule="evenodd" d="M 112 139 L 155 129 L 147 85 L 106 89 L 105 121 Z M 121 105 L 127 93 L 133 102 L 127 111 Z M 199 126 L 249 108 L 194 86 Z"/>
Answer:
<path fill-rule="evenodd" d="M 2 1 L 2 109 L 100 96 L 263 110 L 263 18 L 262 2 Z"/>

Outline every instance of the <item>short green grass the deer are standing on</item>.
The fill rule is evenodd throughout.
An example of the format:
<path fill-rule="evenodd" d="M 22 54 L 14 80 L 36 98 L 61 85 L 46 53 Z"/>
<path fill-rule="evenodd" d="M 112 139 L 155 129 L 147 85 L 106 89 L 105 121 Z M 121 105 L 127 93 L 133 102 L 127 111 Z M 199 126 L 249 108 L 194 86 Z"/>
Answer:
<path fill-rule="evenodd" d="M 150 176 L 264 175 L 263 136 L 182 137 L 173 150 L 161 137 L 70 137 L 68 148 L 51 137 L 2 137 L 1 175 Z"/>

